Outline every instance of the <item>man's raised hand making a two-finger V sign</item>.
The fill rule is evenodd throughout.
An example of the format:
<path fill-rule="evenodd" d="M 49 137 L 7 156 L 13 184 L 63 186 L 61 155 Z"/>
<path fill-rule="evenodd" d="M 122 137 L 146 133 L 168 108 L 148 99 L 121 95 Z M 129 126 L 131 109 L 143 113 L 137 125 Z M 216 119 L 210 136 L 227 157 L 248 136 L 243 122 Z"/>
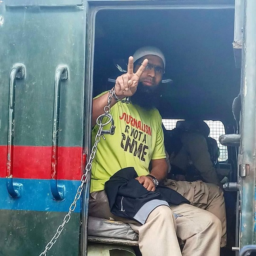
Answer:
<path fill-rule="evenodd" d="M 134 95 L 137 90 L 139 79 L 147 64 L 148 60 L 145 59 L 137 72 L 134 73 L 133 57 L 129 57 L 127 73 L 116 79 L 115 93 L 119 99 Z"/>

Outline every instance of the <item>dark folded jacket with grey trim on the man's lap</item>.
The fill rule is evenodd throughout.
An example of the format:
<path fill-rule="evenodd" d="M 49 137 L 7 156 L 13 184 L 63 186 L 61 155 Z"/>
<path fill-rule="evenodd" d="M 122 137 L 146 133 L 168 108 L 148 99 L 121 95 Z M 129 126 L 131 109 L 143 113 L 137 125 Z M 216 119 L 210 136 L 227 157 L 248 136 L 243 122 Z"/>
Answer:
<path fill-rule="evenodd" d="M 136 177 L 134 167 L 127 167 L 105 183 L 110 210 L 114 215 L 144 224 L 148 215 L 160 205 L 189 204 L 186 198 L 165 186 L 157 186 L 154 192 L 148 191 L 135 180 Z"/>

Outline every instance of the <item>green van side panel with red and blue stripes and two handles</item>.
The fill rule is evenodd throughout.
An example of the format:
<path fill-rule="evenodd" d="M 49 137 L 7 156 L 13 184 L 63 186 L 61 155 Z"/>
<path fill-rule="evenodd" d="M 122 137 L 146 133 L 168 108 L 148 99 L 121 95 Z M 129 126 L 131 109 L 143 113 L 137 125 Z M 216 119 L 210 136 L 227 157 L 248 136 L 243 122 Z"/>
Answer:
<path fill-rule="evenodd" d="M 39 255 L 85 162 L 86 7 L 0 1 L 0 255 Z M 81 202 L 47 255 L 79 254 Z"/>

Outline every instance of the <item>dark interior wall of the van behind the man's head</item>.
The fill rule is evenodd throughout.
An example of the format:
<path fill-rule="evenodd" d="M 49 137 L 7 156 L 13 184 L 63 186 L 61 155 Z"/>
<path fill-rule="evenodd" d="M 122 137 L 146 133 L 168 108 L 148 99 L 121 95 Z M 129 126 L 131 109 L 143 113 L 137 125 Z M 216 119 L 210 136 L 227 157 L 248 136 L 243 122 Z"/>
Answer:
<path fill-rule="evenodd" d="M 93 96 L 113 87 L 113 79 L 125 70 L 136 49 L 156 46 L 166 58 L 159 86 L 162 118 L 218 120 L 226 134 L 237 133 L 232 103 L 240 91 L 241 69 L 236 67 L 233 33 L 234 9 L 229 6 L 102 9 L 96 14 Z M 220 164 L 229 166 L 228 179 L 236 182 L 237 148 L 227 150 L 227 160 Z M 235 255 L 231 247 L 236 246 L 236 195 L 225 192 L 228 241 L 221 254 L 225 256 Z"/>

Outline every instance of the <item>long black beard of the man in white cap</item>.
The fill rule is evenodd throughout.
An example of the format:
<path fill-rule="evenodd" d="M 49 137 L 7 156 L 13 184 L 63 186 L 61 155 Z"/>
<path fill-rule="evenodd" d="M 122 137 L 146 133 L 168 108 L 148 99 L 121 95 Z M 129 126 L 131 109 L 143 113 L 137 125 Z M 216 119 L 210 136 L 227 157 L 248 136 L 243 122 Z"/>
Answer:
<path fill-rule="evenodd" d="M 136 93 L 131 96 L 131 102 L 135 105 L 139 105 L 141 108 L 151 110 L 153 108 L 158 108 L 159 97 L 160 92 L 157 85 L 146 86 L 142 83 L 139 83 Z"/>

